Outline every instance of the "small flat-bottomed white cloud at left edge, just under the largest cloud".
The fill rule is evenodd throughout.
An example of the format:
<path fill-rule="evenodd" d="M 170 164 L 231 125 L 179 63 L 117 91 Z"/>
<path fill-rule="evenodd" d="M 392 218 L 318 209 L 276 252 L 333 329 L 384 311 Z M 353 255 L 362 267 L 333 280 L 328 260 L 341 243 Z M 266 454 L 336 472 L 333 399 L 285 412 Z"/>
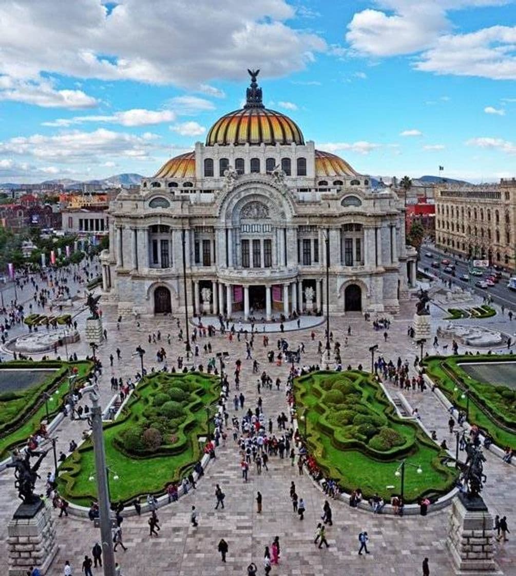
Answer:
<path fill-rule="evenodd" d="M 94 108 L 98 105 L 95 98 L 82 90 L 56 90 L 51 81 L 40 77 L 24 81 L 6 75 L 0 77 L 0 100 L 13 100 L 43 108 Z"/>

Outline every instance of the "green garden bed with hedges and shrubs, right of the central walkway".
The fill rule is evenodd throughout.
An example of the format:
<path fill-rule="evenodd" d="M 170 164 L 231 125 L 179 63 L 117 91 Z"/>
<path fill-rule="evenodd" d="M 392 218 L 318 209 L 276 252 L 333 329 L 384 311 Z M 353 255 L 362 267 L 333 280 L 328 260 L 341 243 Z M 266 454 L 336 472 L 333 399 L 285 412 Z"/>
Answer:
<path fill-rule="evenodd" d="M 343 400 L 334 395 L 335 389 L 342 391 Z M 456 473 L 441 463 L 445 452 L 418 425 L 397 417 L 369 374 L 312 373 L 296 378 L 295 396 L 298 415 L 306 418 L 309 452 L 345 491 L 360 487 L 365 497 L 378 492 L 390 499 L 400 490 L 395 471 L 403 459 L 423 469 L 418 474 L 406 467 L 406 502 L 423 494 L 438 497 L 452 488 Z M 300 426 L 303 433 L 303 420 Z"/>

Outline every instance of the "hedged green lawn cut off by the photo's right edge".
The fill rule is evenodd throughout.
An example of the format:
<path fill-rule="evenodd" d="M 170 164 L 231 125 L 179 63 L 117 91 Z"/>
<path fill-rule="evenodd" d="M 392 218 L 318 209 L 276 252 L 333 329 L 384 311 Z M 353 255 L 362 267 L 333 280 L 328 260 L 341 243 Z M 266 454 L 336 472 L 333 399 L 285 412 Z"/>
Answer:
<path fill-rule="evenodd" d="M 469 423 L 487 430 L 501 446 L 516 446 L 516 392 L 509 386 L 476 380 L 459 366 L 464 362 L 514 362 L 514 356 L 482 355 L 430 357 L 425 359 L 427 374 L 456 407 L 466 411 L 467 398 L 463 389 L 469 389 Z M 458 380 L 458 385 L 454 378 Z M 455 390 L 457 388 L 457 390 Z M 484 408 L 486 412 L 481 410 Z M 500 426 L 499 424 L 502 424 Z"/>

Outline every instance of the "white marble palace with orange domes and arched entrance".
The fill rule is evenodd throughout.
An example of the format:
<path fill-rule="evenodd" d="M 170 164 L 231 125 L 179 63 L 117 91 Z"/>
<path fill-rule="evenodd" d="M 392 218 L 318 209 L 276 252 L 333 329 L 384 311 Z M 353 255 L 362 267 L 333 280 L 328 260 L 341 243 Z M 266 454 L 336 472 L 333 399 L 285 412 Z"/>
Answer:
<path fill-rule="evenodd" d="M 403 204 L 265 108 L 257 74 L 204 144 L 110 203 L 106 295 L 120 313 L 181 314 L 185 291 L 196 314 L 324 313 L 328 266 L 330 313 L 397 312 L 415 282 Z"/>

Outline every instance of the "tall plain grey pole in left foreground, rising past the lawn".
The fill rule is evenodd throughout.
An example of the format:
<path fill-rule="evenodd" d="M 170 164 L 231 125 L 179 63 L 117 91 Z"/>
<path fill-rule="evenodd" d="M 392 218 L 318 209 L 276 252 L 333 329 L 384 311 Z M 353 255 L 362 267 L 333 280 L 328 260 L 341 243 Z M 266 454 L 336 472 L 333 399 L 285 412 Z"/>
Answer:
<path fill-rule="evenodd" d="M 111 514 L 106 470 L 106 453 L 104 449 L 104 430 L 102 429 L 102 409 L 97 386 L 86 386 L 83 393 L 90 393 L 91 429 L 93 430 L 93 449 L 95 454 L 95 476 L 97 478 L 97 497 L 100 517 L 100 534 L 102 541 L 102 560 L 104 576 L 115 576 L 113 536 L 111 533 Z"/>

